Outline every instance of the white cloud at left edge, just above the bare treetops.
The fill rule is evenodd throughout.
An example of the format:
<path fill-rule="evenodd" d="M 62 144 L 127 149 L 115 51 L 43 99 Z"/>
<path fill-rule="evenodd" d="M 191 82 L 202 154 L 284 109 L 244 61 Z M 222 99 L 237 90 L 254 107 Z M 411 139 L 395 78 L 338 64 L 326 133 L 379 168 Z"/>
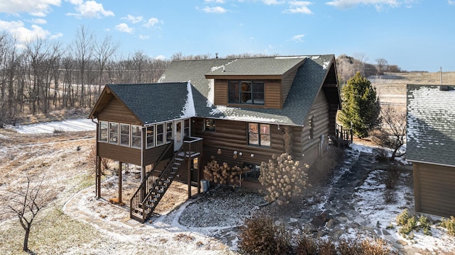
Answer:
<path fill-rule="evenodd" d="M 0 30 L 11 33 L 11 35 L 17 38 L 18 42 L 44 39 L 50 35 L 48 30 L 37 25 L 26 28 L 22 21 L 0 21 Z"/>

